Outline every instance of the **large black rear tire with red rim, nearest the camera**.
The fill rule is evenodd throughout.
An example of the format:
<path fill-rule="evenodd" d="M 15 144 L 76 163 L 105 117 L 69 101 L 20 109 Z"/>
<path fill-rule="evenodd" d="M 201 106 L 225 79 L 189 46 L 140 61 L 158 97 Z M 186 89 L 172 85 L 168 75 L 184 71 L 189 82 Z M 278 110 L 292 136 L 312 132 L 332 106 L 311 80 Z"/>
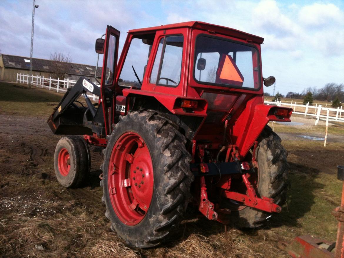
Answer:
<path fill-rule="evenodd" d="M 191 155 L 176 125 L 154 110 L 129 112 L 104 150 L 102 201 L 111 229 L 140 248 L 166 241 L 191 200 Z"/>

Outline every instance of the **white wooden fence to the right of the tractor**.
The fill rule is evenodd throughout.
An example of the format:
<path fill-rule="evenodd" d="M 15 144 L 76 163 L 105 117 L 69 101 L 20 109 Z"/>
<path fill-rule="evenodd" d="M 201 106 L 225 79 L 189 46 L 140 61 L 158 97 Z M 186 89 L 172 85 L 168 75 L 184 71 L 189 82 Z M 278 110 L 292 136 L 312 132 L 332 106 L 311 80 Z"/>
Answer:
<path fill-rule="evenodd" d="M 327 108 L 322 107 L 321 105 L 315 104 L 315 106 L 309 105 L 307 103 L 306 105 L 300 105 L 296 104 L 296 101 L 291 103 L 282 103 L 282 101 L 264 101 L 264 103 L 268 105 L 276 105 L 276 106 L 287 106 L 293 108 L 293 114 L 300 114 L 306 116 L 314 116 L 316 118 L 315 125 L 318 125 L 320 118 L 325 118 L 326 120 L 330 121 L 338 121 L 338 122 L 344 122 L 344 109 L 342 107 L 337 108 Z M 304 109 L 304 112 L 296 111 L 298 109 Z"/>

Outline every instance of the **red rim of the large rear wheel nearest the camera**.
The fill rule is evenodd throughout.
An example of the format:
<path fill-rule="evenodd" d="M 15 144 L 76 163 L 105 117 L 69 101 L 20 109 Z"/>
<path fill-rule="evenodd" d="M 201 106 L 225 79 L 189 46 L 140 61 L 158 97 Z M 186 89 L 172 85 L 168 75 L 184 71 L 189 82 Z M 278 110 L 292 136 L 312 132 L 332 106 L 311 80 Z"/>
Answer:
<path fill-rule="evenodd" d="M 124 133 L 112 149 L 108 168 L 110 201 L 121 222 L 134 226 L 142 221 L 153 187 L 153 162 L 146 143 L 138 133 Z"/>

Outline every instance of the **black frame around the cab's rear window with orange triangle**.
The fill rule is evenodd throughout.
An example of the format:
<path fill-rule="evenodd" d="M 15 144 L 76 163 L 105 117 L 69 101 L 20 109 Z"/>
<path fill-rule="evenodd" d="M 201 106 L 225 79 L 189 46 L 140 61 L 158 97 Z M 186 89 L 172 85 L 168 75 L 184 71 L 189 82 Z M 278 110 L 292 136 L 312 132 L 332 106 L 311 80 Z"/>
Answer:
<path fill-rule="evenodd" d="M 196 69 L 196 61 L 197 61 L 197 55 L 196 55 L 196 47 L 197 47 L 197 41 L 199 40 L 199 38 L 201 36 L 205 36 L 205 37 L 210 37 L 210 38 L 213 38 L 213 39 L 219 39 L 219 40 L 224 40 L 224 41 L 228 41 L 228 42 L 231 42 L 231 43 L 236 43 L 236 44 L 240 44 L 240 45 L 245 45 L 245 46 L 249 46 L 249 47 L 253 47 L 254 49 L 256 49 L 256 54 L 257 54 L 257 69 L 258 69 L 258 78 L 257 78 L 257 82 L 258 82 L 258 87 L 257 88 L 251 88 L 251 87 L 243 87 L 243 86 L 235 86 L 235 85 L 231 85 L 231 84 L 221 84 L 221 83 L 208 83 L 208 82 L 202 82 L 202 81 L 199 81 L 195 78 L 195 69 Z M 216 52 L 218 53 L 218 52 Z M 255 45 L 252 45 L 252 44 L 247 44 L 247 43 L 244 43 L 244 42 L 240 42 L 240 41 L 236 41 L 236 40 L 232 40 L 232 39 L 227 39 L 226 37 L 223 37 L 223 36 L 213 36 L 213 35 L 209 35 L 209 34 L 204 34 L 204 33 L 200 33 L 200 34 L 197 34 L 196 35 L 196 40 L 195 40 L 195 45 L 194 45 L 194 48 L 193 48 L 193 55 L 194 55 L 194 64 L 193 64 L 193 69 L 192 69 L 192 77 L 194 79 L 194 81 L 197 83 L 197 84 L 201 84 L 201 85 L 212 85 L 212 86 L 220 86 L 220 87 L 224 87 L 226 89 L 230 89 L 230 88 L 236 88 L 236 89 L 245 89 L 245 90 L 250 90 L 250 91 L 259 91 L 262 87 L 261 85 L 261 63 L 260 63 L 260 52 L 258 50 L 258 47 L 256 47 Z M 221 56 L 220 56 L 221 57 Z M 253 62 L 253 58 L 252 58 L 252 62 Z M 252 67 L 253 69 L 253 67 Z M 254 81 L 255 82 L 255 81 Z"/>

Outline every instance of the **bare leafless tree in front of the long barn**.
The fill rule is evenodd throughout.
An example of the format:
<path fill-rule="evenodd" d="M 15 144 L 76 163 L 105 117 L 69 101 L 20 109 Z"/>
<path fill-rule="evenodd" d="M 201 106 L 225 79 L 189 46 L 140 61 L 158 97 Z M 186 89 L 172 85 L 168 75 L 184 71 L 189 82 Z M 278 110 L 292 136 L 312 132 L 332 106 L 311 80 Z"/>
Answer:
<path fill-rule="evenodd" d="M 51 72 L 55 79 L 63 79 L 66 77 L 69 64 L 73 62 L 72 57 L 69 53 L 65 54 L 64 52 L 55 52 L 50 54 L 50 60 L 52 62 Z"/>

